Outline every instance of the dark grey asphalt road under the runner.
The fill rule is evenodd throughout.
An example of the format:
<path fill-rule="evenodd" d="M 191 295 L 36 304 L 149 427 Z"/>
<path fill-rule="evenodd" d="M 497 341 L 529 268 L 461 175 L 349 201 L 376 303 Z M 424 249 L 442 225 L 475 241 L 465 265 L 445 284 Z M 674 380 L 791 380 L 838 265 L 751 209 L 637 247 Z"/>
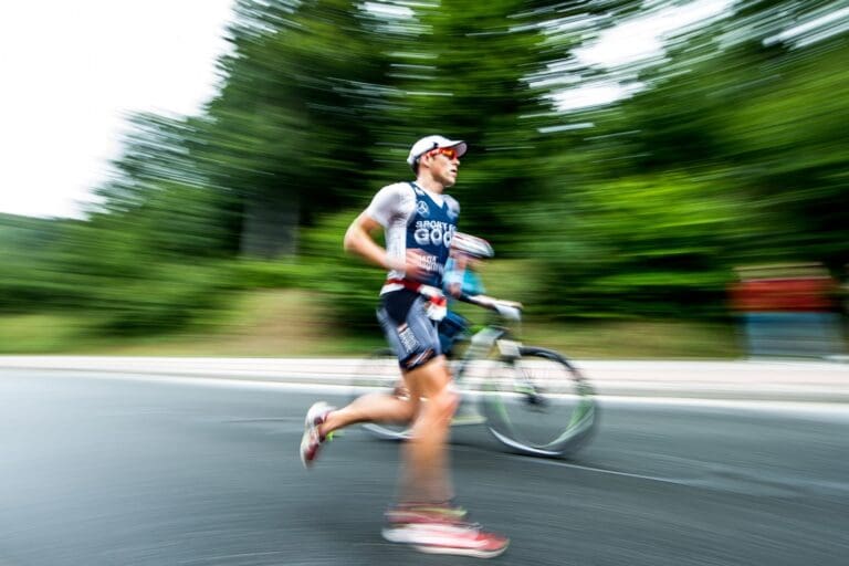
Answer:
<path fill-rule="evenodd" d="M 113 378 L 115 377 L 115 378 Z M 453 565 L 385 543 L 397 444 L 352 430 L 301 468 L 275 384 L 0 373 L 0 566 Z M 510 565 L 846 565 L 846 406 L 602 400 L 570 460 L 452 446 Z"/>

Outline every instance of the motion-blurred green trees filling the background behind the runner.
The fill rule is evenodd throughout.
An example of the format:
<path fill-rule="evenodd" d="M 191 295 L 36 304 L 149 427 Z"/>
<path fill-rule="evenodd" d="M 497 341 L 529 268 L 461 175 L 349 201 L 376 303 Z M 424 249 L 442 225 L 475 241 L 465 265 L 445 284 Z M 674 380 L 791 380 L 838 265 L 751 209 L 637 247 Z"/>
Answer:
<path fill-rule="evenodd" d="M 461 230 L 534 315 L 716 318 L 735 265 L 845 276 L 847 3 L 738 0 L 661 55 L 577 55 L 681 6 L 238 0 L 217 96 L 134 116 L 84 221 L 0 216 L 0 310 L 155 333 L 292 286 L 374 329 L 382 274 L 342 238 L 431 133 L 470 143 Z M 628 94 L 558 102 L 587 85 Z"/>

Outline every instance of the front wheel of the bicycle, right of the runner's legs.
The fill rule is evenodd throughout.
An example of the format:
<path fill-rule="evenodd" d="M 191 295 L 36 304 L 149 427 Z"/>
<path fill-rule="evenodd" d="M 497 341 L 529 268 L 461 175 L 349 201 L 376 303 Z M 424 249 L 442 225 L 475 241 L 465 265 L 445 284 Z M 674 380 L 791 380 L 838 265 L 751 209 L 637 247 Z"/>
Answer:
<path fill-rule="evenodd" d="M 556 352 L 521 347 L 483 384 L 482 407 L 497 440 L 524 454 L 563 457 L 590 437 L 598 409 L 593 389 Z"/>

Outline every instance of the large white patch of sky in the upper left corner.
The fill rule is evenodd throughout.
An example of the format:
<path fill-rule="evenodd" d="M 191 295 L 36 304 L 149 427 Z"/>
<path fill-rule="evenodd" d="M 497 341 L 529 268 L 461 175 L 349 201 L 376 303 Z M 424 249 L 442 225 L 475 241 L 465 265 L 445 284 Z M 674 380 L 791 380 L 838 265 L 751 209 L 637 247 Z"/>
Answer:
<path fill-rule="evenodd" d="M 232 0 L 49 0 L 0 8 L 0 212 L 78 216 L 127 113 L 193 114 Z"/>

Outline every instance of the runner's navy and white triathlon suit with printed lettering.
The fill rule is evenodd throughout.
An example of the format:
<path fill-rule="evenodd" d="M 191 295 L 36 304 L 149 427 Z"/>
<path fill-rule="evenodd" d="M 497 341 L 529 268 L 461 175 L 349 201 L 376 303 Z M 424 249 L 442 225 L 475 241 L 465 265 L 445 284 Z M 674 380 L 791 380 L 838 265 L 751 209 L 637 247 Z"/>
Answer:
<path fill-rule="evenodd" d="M 442 289 L 460 205 L 415 182 L 398 182 L 380 189 L 366 214 L 384 227 L 390 258 L 403 261 L 407 250 L 419 250 L 424 258 L 428 273 L 421 281 L 408 280 L 401 271 L 389 272 L 377 312 L 401 368 L 415 369 L 442 353 L 437 333 L 439 315 L 433 314 L 427 291 Z M 422 284 L 426 287 L 420 287 Z M 444 312 L 444 300 L 442 305 Z"/>

